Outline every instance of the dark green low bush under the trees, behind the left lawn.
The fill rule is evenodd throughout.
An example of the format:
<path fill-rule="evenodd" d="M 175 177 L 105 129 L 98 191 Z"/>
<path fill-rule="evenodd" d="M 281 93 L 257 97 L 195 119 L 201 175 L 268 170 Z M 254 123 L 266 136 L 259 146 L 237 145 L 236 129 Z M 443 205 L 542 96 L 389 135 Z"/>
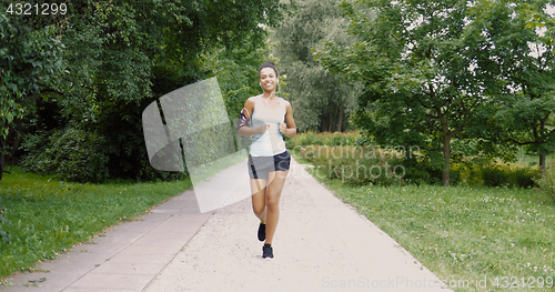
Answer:
<path fill-rule="evenodd" d="M 65 181 L 173 181 L 186 177 L 184 172 L 160 171 L 150 165 L 142 131 L 101 135 L 65 128 L 28 135 L 22 150 L 26 154 L 19 165 L 23 170 L 54 174 Z"/>

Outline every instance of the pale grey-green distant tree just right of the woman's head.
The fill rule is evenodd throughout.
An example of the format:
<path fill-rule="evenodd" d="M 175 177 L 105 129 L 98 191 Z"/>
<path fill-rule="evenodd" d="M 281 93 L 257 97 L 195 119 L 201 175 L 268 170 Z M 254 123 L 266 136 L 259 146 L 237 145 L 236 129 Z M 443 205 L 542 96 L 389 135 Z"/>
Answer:
<path fill-rule="evenodd" d="M 345 46 L 353 42 L 337 2 L 300 1 L 272 37 L 278 42 L 280 73 L 286 77 L 283 91 L 293 104 L 300 131 L 344 131 L 360 93 L 355 82 L 330 74 L 312 54 L 323 39 Z"/>

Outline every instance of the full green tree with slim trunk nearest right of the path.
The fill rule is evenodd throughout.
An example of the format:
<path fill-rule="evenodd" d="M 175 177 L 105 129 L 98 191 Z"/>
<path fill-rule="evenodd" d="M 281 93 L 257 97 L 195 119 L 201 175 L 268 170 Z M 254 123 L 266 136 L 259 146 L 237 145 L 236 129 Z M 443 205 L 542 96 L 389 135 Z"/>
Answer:
<path fill-rule="evenodd" d="M 484 127 L 484 97 L 497 85 L 467 54 L 476 46 L 467 31 L 468 2 L 356 6 L 344 1 L 342 9 L 359 41 L 349 48 L 327 42 L 317 56 L 330 70 L 364 82 L 356 113 L 361 128 L 377 143 L 441 153 L 442 184 L 450 185 L 451 143 L 468 129 Z"/>

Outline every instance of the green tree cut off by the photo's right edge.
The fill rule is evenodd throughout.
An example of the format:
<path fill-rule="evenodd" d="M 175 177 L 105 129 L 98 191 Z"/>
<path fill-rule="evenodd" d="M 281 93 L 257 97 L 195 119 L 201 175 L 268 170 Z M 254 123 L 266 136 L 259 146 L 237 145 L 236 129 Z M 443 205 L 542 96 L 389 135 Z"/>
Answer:
<path fill-rule="evenodd" d="M 552 4 L 549 4 L 552 3 Z M 552 9 L 551 14 L 547 9 Z M 480 70 L 503 82 L 495 97 L 490 135 L 495 143 L 525 145 L 539 155 L 555 152 L 555 11 L 553 1 L 475 1 L 470 48 Z"/>

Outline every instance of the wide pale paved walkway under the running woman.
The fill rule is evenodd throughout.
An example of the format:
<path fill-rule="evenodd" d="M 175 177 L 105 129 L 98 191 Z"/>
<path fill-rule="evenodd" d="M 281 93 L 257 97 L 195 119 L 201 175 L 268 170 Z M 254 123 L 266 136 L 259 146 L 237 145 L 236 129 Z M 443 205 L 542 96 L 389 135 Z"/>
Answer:
<path fill-rule="evenodd" d="M 188 191 L 0 291 L 450 291 L 295 161 L 280 208 L 273 260 L 249 199 L 201 214 Z"/>

